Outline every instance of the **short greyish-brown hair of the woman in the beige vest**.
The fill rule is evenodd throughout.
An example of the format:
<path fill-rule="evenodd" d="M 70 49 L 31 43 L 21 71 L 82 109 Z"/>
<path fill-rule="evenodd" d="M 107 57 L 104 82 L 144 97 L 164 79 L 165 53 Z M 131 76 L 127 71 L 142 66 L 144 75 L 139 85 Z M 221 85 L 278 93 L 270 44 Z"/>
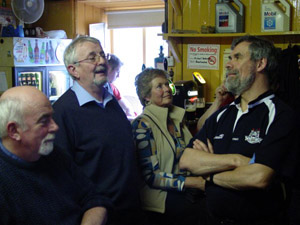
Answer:
<path fill-rule="evenodd" d="M 146 97 L 151 94 L 151 81 L 156 77 L 168 78 L 168 74 L 164 70 L 147 68 L 139 73 L 135 78 L 136 93 L 143 106 L 146 106 Z"/>

